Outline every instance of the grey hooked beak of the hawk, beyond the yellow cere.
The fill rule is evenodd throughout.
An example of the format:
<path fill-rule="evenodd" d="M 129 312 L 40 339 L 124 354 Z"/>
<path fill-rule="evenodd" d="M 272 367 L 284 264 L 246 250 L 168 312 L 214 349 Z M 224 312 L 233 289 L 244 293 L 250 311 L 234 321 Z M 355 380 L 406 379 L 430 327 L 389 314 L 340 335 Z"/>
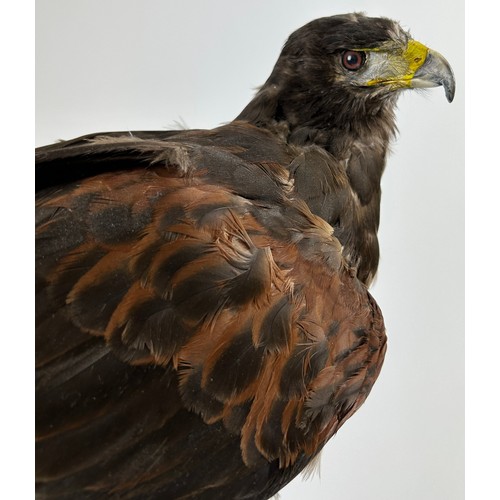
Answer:
<path fill-rule="evenodd" d="M 448 61 L 439 52 L 427 49 L 424 63 L 411 79 L 412 88 L 444 87 L 448 102 L 455 96 L 455 77 Z"/>

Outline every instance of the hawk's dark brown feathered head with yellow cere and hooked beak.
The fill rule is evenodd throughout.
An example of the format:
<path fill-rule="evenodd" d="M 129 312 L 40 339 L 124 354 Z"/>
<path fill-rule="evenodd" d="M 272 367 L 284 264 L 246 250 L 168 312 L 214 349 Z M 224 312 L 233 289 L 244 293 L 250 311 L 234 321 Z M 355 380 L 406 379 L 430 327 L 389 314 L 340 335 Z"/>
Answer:
<path fill-rule="evenodd" d="M 240 119 L 314 129 L 355 127 L 392 111 L 401 90 L 442 85 L 453 100 L 446 59 L 387 18 L 316 19 L 285 43 L 274 70 Z"/>

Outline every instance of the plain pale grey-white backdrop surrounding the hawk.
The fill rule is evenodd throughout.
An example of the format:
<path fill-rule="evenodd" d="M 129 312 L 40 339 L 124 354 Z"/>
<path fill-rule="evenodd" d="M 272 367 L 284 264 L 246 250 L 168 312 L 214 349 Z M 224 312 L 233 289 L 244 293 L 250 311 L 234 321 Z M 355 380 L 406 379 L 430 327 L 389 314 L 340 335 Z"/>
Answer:
<path fill-rule="evenodd" d="M 372 294 L 389 345 L 365 405 L 282 500 L 463 498 L 464 12 L 401 0 L 38 0 L 36 144 L 233 119 L 287 36 L 321 16 L 383 15 L 442 53 L 457 80 L 408 91 L 383 179 Z M 229 499 L 228 499 L 229 500 Z"/>

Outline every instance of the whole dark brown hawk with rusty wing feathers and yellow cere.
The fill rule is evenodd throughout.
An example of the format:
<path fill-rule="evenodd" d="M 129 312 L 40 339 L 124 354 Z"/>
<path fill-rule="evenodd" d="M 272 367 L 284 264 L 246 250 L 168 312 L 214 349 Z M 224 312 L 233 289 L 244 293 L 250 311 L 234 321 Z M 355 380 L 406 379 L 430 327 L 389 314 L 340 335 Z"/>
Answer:
<path fill-rule="evenodd" d="M 318 455 L 384 359 L 396 100 L 440 85 L 396 22 L 338 15 L 226 125 L 38 149 L 39 498 L 265 499 Z"/>

